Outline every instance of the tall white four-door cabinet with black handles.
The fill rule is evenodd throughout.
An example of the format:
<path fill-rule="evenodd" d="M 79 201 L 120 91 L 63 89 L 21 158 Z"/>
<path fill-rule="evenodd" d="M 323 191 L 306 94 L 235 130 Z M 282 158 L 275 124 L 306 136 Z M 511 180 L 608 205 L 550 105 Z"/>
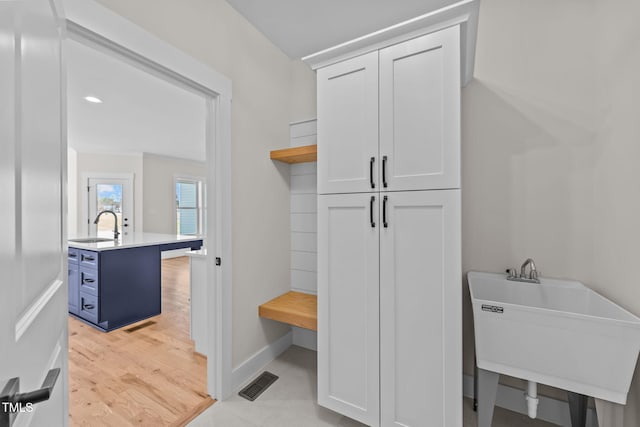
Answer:
<path fill-rule="evenodd" d="M 318 70 L 318 402 L 462 426 L 459 28 Z"/>

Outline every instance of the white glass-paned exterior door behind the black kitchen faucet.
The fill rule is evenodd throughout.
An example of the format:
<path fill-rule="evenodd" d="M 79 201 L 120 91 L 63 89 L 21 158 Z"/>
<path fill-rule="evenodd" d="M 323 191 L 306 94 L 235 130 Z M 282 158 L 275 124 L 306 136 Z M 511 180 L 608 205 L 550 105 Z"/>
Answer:
<path fill-rule="evenodd" d="M 87 231 L 90 236 L 100 234 L 111 236 L 118 220 L 118 231 L 123 235 L 134 231 L 133 222 L 133 176 L 107 177 L 92 176 L 87 178 Z M 109 210 L 112 214 L 100 216 L 98 224 L 95 219 L 98 213 Z"/>

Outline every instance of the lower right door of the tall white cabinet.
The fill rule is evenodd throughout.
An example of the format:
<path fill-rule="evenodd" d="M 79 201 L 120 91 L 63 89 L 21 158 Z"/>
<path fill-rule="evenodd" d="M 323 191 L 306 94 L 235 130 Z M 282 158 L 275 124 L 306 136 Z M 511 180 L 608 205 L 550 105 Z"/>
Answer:
<path fill-rule="evenodd" d="M 461 427 L 460 190 L 381 197 L 381 423 Z"/>

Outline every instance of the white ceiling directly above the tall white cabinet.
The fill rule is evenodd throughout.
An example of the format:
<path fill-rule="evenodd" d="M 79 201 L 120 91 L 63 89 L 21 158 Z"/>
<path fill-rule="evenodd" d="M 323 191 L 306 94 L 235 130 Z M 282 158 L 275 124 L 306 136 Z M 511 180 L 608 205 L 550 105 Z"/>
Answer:
<path fill-rule="evenodd" d="M 227 0 L 292 59 L 459 0 Z"/>

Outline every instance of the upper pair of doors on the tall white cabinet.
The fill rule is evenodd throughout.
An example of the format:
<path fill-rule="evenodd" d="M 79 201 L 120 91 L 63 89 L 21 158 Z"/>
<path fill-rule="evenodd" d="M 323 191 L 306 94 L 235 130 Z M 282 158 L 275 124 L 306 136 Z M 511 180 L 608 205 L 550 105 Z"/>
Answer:
<path fill-rule="evenodd" d="M 318 193 L 460 187 L 459 29 L 318 70 Z"/>

